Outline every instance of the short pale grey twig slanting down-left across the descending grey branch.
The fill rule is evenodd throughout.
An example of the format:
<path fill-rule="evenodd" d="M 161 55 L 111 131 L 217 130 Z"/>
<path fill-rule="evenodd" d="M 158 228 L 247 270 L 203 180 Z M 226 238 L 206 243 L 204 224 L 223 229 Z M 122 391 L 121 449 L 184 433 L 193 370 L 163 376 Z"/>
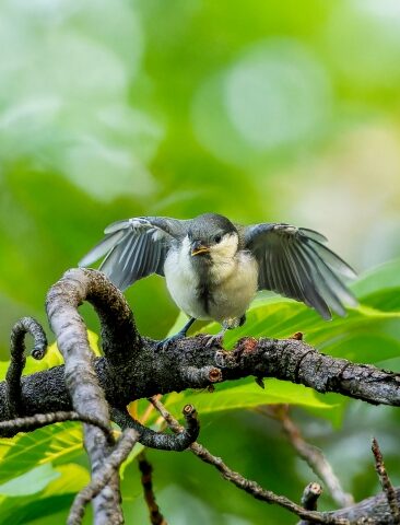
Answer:
<path fill-rule="evenodd" d="M 104 458 L 103 465 L 93 475 L 92 481 L 82 489 L 75 497 L 67 525 L 79 525 L 82 523 L 86 504 L 92 501 L 109 483 L 113 476 L 118 474 L 119 467 L 128 457 L 138 441 L 138 433 L 133 429 L 127 429 L 120 436 L 115 450 Z M 119 520 L 119 517 L 117 517 Z M 119 523 L 109 522 L 111 523 Z"/>

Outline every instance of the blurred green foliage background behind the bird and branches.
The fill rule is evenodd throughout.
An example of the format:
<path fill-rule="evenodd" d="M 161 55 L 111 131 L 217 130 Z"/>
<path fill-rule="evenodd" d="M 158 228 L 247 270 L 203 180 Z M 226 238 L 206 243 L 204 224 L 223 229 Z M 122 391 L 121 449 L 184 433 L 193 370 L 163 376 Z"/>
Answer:
<path fill-rule="evenodd" d="M 321 231 L 358 270 L 399 257 L 399 23 L 397 0 L 309 0 L 301 7 L 293 0 L 3 0 L 2 359 L 12 324 L 23 315 L 46 323 L 48 288 L 118 219 L 217 211 L 239 222 Z M 399 275 L 398 261 L 364 273 L 354 284 L 361 306 L 330 324 L 302 305 L 262 296 L 226 343 L 243 334 L 301 330 L 325 352 L 398 368 Z M 161 278 L 138 282 L 127 296 L 141 332 L 167 332 L 177 311 Z M 82 314 L 97 332 L 92 310 L 83 306 Z M 59 359 L 52 348 L 40 364 L 28 359 L 27 371 Z M 264 402 L 297 396 L 308 405 L 294 409 L 298 421 L 356 498 L 378 490 L 368 441 L 379 429 L 386 463 L 400 483 L 396 410 L 296 388 L 269 381 L 261 393 L 244 382 L 219 388 L 217 402 L 198 393 L 168 402 L 179 411 L 185 396 L 199 397 L 204 444 L 295 500 L 314 476 L 282 442 L 275 422 L 243 410 L 258 396 Z M 215 412 L 220 405 L 235 410 Z M 57 462 L 51 451 L 63 432 L 68 443 L 78 428 L 55 427 L 48 442 L 47 430 L 32 434 L 26 453 L 35 454 L 26 468 L 34 470 L 12 468 L 32 476 L 22 481 L 35 479 L 37 493 L 16 493 L 21 483 L 1 478 L 3 521 L 64 520 L 87 480 L 87 465 L 81 448 Z M 27 439 L 2 442 L 1 454 L 12 460 Z M 273 506 L 267 518 L 264 504 L 187 453 L 150 456 L 157 499 L 175 525 L 294 523 Z M 127 523 L 145 523 L 134 462 L 125 470 L 122 492 Z"/>

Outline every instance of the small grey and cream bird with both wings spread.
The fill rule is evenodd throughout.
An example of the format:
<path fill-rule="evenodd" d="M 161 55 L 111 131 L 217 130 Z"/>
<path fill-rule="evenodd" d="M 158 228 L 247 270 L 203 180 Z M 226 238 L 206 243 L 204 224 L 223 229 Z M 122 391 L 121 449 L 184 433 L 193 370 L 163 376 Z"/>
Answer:
<path fill-rule="evenodd" d="M 196 319 L 222 325 L 208 345 L 221 343 L 225 330 L 242 326 L 256 293 L 270 290 L 305 303 L 323 319 L 345 316 L 355 296 L 345 284 L 356 277 L 327 238 L 307 228 L 263 222 L 240 225 L 217 213 L 195 219 L 137 217 L 114 222 L 105 237 L 79 262 L 104 257 L 99 270 L 121 291 L 157 273 L 188 322 L 158 342 L 166 349 L 186 337 Z"/>

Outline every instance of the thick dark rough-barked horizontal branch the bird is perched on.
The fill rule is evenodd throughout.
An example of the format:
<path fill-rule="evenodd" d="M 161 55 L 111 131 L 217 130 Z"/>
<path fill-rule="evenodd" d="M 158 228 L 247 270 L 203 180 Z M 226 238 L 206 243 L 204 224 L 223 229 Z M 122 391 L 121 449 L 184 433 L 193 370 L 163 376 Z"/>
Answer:
<path fill-rule="evenodd" d="M 303 341 L 245 338 L 232 352 L 207 348 L 201 335 L 177 341 L 166 350 L 157 351 L 156 341 L 145 338 L 142 345 L 134 364 L 121 366 L 117 377 L 106 358 L 92 358 L 106 399 L 114 407 L 123 409 L 134 399 L 158 393 L 207 388 L 219 381 L 247 376 L 277 377 L 374 405 L 400 405 L 399 374 L 325 355 Z M 4 397 L 2 382 L 0 421 L 9 419 Z M 30 416 L 72 409 L 62 365 L 23 377 L 21 397 L 24 413 Z"/>

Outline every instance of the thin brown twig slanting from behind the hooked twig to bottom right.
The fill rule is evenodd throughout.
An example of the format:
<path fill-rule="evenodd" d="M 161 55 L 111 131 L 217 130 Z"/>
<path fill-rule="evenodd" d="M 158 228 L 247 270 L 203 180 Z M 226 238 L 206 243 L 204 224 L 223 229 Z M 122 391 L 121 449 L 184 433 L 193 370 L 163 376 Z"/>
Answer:
<path fill-rule="evenodd" d="M 154 407 L 158 410 L 158 412 L 163 416 L 165 421 L 167 422 L 168 427 L 174 432 L 181 432 L 183 427 L 178 423 L 178 421 L 167 411 L 164 405 L 155 399 L 151 398 L 150 401 L 154 405 Z M 238 472 L 235 472 L 230 467 L 227 467 L 221 457 L 213 456 L 204 446 L 200 445 L 199 443 L 195 442 L 189 446 L 189 450 L 198 456 L 204 463 L 209 465 L 213 465 L 222 476 L 234 483 L 237 488 L 245 490 L 246 492 L 250 493 L 254 498 L 258 500 L 266 501 L 268 503 L 277 503 L 280 506 L 283 506 L 290 512 L 293 512 L 299 517 L 304 517 L 309 520 L 313 523 L 329 523 L 329 524 L 343 524 L 342 520 L 336 520 L 334 517 L 326 517 L 319 512 L 307 511 L 302 506 L 297 505 L 293 501 L 289 500 L 284 495 L 278 495 L 270 490 L 266 490 L 260 487 L 256 481 L 251 481 L 246 479 Z"/>

